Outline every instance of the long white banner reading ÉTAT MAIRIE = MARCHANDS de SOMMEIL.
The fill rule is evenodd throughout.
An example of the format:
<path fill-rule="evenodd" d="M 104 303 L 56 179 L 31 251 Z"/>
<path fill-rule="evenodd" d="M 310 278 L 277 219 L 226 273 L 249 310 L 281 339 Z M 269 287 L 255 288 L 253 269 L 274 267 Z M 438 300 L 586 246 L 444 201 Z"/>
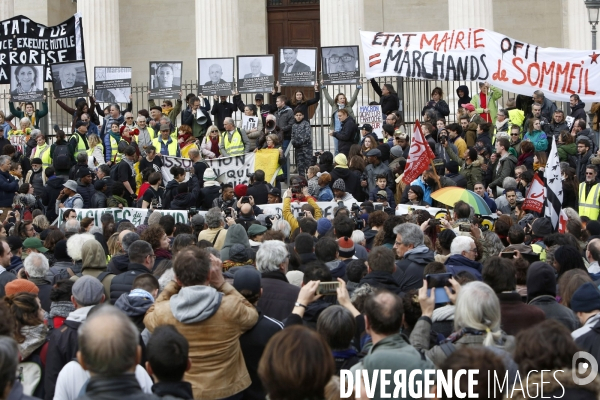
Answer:
<path fill-rule="evenodd" d="M 592 50 L 539 47 L 483 28 L 360 36 L 367 78 L 481 81 L 528 96 L 542 90 L 551 100 L 597 100 L 600 53 Z"/>

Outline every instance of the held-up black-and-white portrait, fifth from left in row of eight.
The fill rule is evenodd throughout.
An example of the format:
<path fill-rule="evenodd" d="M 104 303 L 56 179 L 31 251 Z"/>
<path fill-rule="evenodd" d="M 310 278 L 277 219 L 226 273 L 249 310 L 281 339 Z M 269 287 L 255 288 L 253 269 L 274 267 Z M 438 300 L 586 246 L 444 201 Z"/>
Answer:
<path fill-rule="evenodd" d="M 233 57 L 199 58 L 198 90 L 205 96 L 230 96 L 233 90 Z"/>

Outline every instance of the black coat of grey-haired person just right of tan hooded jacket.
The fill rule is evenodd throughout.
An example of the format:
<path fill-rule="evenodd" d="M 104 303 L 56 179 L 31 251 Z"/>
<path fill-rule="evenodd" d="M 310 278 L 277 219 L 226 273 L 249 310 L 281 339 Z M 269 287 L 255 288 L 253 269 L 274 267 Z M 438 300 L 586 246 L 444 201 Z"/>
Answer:
<path fill-rule="evenodd" d="M 258 307 L 266 316 L 283 321 L 294 309 L 300 288 L 290 284 L 281 271 L 263 272 L 261 283 Z"/>

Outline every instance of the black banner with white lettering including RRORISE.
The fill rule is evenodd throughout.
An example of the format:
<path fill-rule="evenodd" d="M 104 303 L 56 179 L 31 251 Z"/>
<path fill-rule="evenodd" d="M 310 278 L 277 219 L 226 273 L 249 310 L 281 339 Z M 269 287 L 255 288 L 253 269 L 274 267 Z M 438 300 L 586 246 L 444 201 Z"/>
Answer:
<path fill-rule="evenodd" d="M 75 15 L 45 26 L 18 15 L 0 21 L 0 84 L 10 83 L 10 67 L 43 64 L 44 81 L 52 81 L 50 64 L 84 60 L 81 18 Z"/>

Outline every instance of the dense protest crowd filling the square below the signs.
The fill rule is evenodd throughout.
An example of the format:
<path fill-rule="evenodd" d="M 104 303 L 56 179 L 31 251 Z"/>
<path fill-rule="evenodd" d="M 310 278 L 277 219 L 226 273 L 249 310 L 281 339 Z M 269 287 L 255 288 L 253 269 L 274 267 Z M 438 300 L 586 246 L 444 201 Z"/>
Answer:
<path fill-rule="evenodd" d="M 537 371 L 550 370 L 545 395 L 599 398 L 600 378 L 578 386 L 571 360 L 583 350 L 600 361 L 600 104 L 588 121 L 572 95 L 568 124 L 541 91 L 501 104 L 484 82 L 475 94 L 435 88 L 413 130 L 393 85 L 369 84 L 382 137 L 355 117 L 361 85 L 334 94 L 320 82 L 312 99 L 276 85 L 271 103 L 254 104 L 180 93 L 140 109 L 103 108 L 90 91 L 75 108 L 52 99 L 72 115 L 53 140 L 39 130 L 51 99 L 10 102 L 3 398 L 337 399 L 340 371 L 381 368 L 479 369 L 480 398 L 504 395 L 486 397 L 487 372 L 512 388 L 517 375 L 542 385 Z M 333 152 L 311 133 L 322 100 Z M 243 129 L 236 111 L 258 127 Z M 417 134 L 433 157 L 405 182 Z M 232 185 L 207 164 L 269 149 L 276 179 L 257 169 Z M 165 181 L 164 157 L 192 166 Z M 526 207 L 549 165 L 560 224 Z M 444 188 L 473 196 L 449 203 Z M 273 204 L 280 215 L 264 211 Z M 147 213 L 134 224 L 115 208 Z"/>

